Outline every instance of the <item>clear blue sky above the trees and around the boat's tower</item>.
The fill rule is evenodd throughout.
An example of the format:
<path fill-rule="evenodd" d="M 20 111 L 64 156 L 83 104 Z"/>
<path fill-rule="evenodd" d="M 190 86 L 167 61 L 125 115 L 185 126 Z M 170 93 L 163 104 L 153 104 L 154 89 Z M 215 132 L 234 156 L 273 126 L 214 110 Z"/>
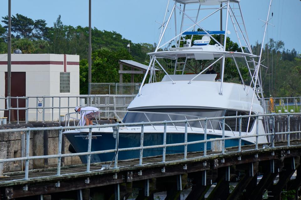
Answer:
<path fill-rule="evenodd" d="M 162 22 L 166 3 L 167 0 L 92 0 L 92 26 L 119 32 L 135 43 L 154 43 L 158 41 L 160 27 L 155 21 Z M 264 27 L 258 18 L 266 19 L 269 0 L 241 0 L 240 4 L 250 42 L 255 44 L 262 40 Z M 7 6 L 8 1 L 2 0 L 0 16 L 8 14 Z M 276 27 L 269 26 L 268 37 L 283 40 L 285 48 L 295 48 L 301 53 L 301 1 L 273 0 L 271 11 L 274 16 L 270 23 Z M 16 13 L 45 19 L 49 26 L 59 14 L 66 25 L 88 26 L 88 0 L 12 0 L 12 14 Z M 212 16 L 209 22 L 218 25 L 219 16 Z M 208 23 L 204 24 L 208 30 L 206 25 Z M 233 31 L 230 37 L 236 41 Z"/>

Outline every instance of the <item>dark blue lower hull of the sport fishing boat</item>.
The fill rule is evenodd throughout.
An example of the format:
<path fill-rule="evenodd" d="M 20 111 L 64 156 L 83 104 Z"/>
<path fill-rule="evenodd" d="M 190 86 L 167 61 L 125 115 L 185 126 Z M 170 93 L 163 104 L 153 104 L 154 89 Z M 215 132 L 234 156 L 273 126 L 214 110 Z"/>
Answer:
<path fill-rule="evenodd" d="M 100 136 L 101 135 L 101 136 Z M 77 153 L 87 152 L 88 140 L 87 133 L 66 133 L 65 136 L 70 141 Z M 92 139 L 91 151 L 101 151 L 115 148 L 116 139 L 112 133 L 93 133 L 97 139 Z M 207 139 L 220 138 L 218 135 L 207 135 Z M 93 137 L 95 138 L 95 137 Z M 203 134 L 188 133 L 188 142 L 203 140 Z M 166 143 L 182 143 L 184 134 L 167 133 Z M 162 133 L 144 133 L 144 146 L 163 144 Z M 242 145 L 252 144 L 242 140 Z M 238 146 L 238 139 L 225 140 L 225 147 Z M 140 133 L 119 133 L 119 148 L 140 147 Z M 211 143 L 207 143 L 207 150 L 211 149 Z M 187 146 L 188 152 L 203 151 L 204 144 L 191 144 Z M 184 146 L 167 147 L 166 154 L 183 153 Z M 115 153 L 94 154 L 91 156 L 91 163 L 111 161 Z M 118 153 L 119 160 L 139 158 L 140 150 L 122 151 Z M 143 157 L 162 155 L 162 148 L 152 148 L 143 150 Z M 87 156 L 80 156 L 82 163 L 87 163 Z"/>

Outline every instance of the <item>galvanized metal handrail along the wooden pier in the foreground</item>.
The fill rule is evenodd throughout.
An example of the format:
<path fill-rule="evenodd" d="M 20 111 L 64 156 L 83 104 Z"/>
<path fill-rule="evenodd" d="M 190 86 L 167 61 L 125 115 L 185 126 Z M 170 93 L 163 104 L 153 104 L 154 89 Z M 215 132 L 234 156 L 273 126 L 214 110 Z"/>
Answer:
<path fill-rule="evenodd" d="M 45 159 L 45 158 L 57 158 L 58 163 L 57 163 L 57 173 L 54 176 L 62 176 L 61 174 L 61 158 L 64 157 L 74 157 L 74 156 L 85 156 L 87 155 L 88 158 L 91 157 L 91 155 L 94 154 L 100 154 L 100 153 L 115 153 L 118 154 L 118 152 L 121 151 L 132 151 L 132 150 L 140 150 L 140 157 L 139 157 L 139 165 L 142 165 L 142 161 L 143 161 L 143 150 L 144 149 L 152 149 L 152 148 L 163 148 L 163 156 L 162 156 L 162 162 L 166 163 L 165 161 L 165 154 L 166 154 L 166 147 L 177 147 L 177 146 L 184 146 L 184 158 L 182 160 L 188 160 L 187 159 L 187 145 L 191 145 L 191 144 L 204 144 L 204 147 L 206 147 L 208 142 L 214 142 L 214 141 L 222 141 L 222 154 L 230 154 L 231 152 L 225 152 L 225 141 L 229 140 L 229 139 L 238 139 L 239 140 L 239 148 L 238 148 L 238 152 L 244 152 L 241 150 L 241 139 L 243 138 L 251 138 L 251 137 L 256 137 L 256 143 L 255 143 L 255 148 L 254 150 L 258 150 L 258 137 L 261 136 L 271 136 L 271 148 L 274 149 L 275 148 L 275 140 L 274 137 L 276 135 L 280 135 L 280 134 L 287 134 L 287 138 L 288 138 L 288 142 L 287 145 L 285 147 L 290 147 L 293 146 L 290 144 L 290 134 L 293 133 L 301 133 L 301 131 L 290 131 L 289 126 L 287 127 L 288 131 L 286 132 L 280 132 L 280 133 L 259 133 L 258 132 L 258 123 L 256 123 L 256 134 L 252 134 L 252 135 L 241 135 L 241 119 L 242 118 L 249 118 L 249 117 L 256 117 L 256 122 L 258 122 L 258 118 L 259 117 L 272 117 L 272 124 L 273 127 L 275 125 L 275 116 L 288 116 L 288 122 L 290 119 L 290 115 L 291 113 L 279 113 L 279 114 L 256 114 L 256 115 L 245 115 L 245 116 L 227 116 L 227 117 L 213 117 L 213 118 L 198 118 L 198 119 L 189 119 L 189 120 L 174 120 L 174 121 L 160 121 L 160 122 L 140 122 L 140 123 L 124 123 L 124 124 L 103 124 L 103 125 L 90 125 L 90 126 L 78 126 L 78 127 L 39 127 L 39 128 L 17 128 L 17 129 L 6 129 L 6 130 L 0 130 L 0 133 L 7 133 L 7 132 L 18 132 L 18 131 L 25 131 L 26 132 L 26 156 L 25 157 L 20 157 L 20 158 L 7 158 L 7 159 L 0 159 L 0 170 L 3 169 L 2 165 L 3 163 L 8 163 L 8 162 L 16 162 L 16 161 L 25 161 L 25 173 L 24 173 L 24 179 L 23 180 L 29 180 L 29 179 L 34 179 L 34 178 L 29 178 L 29 160 L 35 160 L 35 159 Z M 296 113 L 296 115 L 301 115 L 301 113 Z M 239 136 L 231 136 L 231 137 L 225 137 L 224 136 L 224 124 L 225 124 L 225 119 L 233 119 L 233 118 L 239 118 Z M 205 123 L 207 123 L 208 120 L 222 120 L 222 124 L 223 124 L 223 137 L 222 138 L 211 138 L 211 139 L 207 139 L 207 129 L 205 129 L 205 133 L 204 133 L 204 139 L 203 140 L 199 140 L 199 141 L 191 141 L 188 142 L 187 141 L 187 128 L 185 128 L 185 140 L 182 143 L 173 143 L 173 144 L 166 144 L 166 140 L 163 141 L 163 144 L 160 145 L 150 145 L 150 146 L 143 146 L 143 127 L 145 125 L 149 125 L 149 124 L 164 124 L 164 138 L 166 138 L 166 125 L 168 123 L 186 123 L 185 127 L 187 127 L 187 123 L 188 122 L 197 122 L 197 121 L 204 121 Z M 141 142 L 140 142 L 140 146 L 139 147 L 130 147 L 130 148 L 118 148 L 118 141 L 119 141 L 119 127 L 122 126 L 131 126 L 131 125 L 140 125 L 141 126 Z M 106 128 L 106 127 L 112 127 L 114 133 L 116 134 L 116 148 L 114 149 L 108 149 L 108 150 L 100 150 L 100 151 L 91 151 L 91 145 L 92 145 L 92 128 Z M 66 154 L 62 154 L 61 153 L 61 147 L 62 147 L 62 133 L 63 130 L 67 130 L 67 129 L 79 129 L 79 128 L 89 128 L 89 134 L 88 134 L 88 150 L 87 152 L 82 152 L 82 153 L 66 153 Z M 44 130 L 59 130 L 59 137 L 58 137 L 58 154 L 55 155 L 43 155 L 43 156 L 29 156 L 29 139 L 30 139 L 30 132 L 31 131 L 44 131 Z M 275 130 L 273 130 L 275 131 Z M 113 134 L 114 134 L 113 133 Z M 250 149 L 245 150 L 245 151 L 250 151 Z M 207 148 L 204 148 L 204 157 L 208 157 L 209 155 L 206 154 L 207 152 Z M 117 157 L 117 156 L 116 156 Z M 114 168 L 118 168 L 118 159 L 115 157 L 115 163 L 114 163 Z M 194 158 L 189 158 L 189 159 L 194 159 Z M 179 159 L 177 158 L 177 161 L 179 161 Z M 161 163 L 162 163 L 161 162 Z M 174 161 L 169 161 L 169 162 L 174 162 Z M 91 173 L 90 171 L 90 165 L 91 163 L 88 162 L 87 163 L 87 170 L 85 172 L 82 173 Z M 104 170 L 105 168 L 99 169 L 99 170 Z M 96 171 L 99 171 L 96 170 Z M 78 173 L 78 172 L 77 172 Z M 3 171 L 0 172 L 0 174 L 3 174 Z M 4 174 L 5 175 L 5 174 Z M 69 174 L 64 174 L 64 175 L 70 175 Z M 40 178 L 40 177 L 35 177 L 35 178 Z M 18 179 L 18 180 L 22 180 L 22 179 Z M 13 182 L 13 181 L 17 181 L 17 180 L 11 180 L 8 182 Z M 5 181 L 4 181 L 5 182 Z M 1 183 L 1 180 L 0 180 Z"/>

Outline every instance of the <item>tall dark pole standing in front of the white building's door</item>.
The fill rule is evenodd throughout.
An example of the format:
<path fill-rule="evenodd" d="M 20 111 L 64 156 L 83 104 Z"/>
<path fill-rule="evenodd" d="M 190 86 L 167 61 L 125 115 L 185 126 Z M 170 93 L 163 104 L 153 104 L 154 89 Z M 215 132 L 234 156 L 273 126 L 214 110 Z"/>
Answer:
<path fill-rule="evenodd" d="M 7 34 L 7 96 L 10 97 L 11 67 L 12 67 L 12 37 L 11 37 L 11 0 L 8 0 L 8 34 Z M 10 106 L 10 105 L 8 105 Z"/>

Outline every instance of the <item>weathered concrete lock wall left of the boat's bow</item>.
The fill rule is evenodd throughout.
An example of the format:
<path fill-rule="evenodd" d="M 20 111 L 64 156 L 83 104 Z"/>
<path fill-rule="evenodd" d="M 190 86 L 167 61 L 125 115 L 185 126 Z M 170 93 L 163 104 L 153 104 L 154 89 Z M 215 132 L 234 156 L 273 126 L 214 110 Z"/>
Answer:
<path fill-rule="evenodd" d="M 50 127 L 61 126 L 64 123 L 28 123 L 28 124 L 8 124 L 1 125 L 0 129 L 26 128 L 26 127 Z M 32 131 L 30 132 L 30 156 L 57 154 L 58 130 L 51 131 Z M 22 134 L 25 132 L 0 133 L 0 159 L 19 158 L 22 153 Z M 69 141 L 63 135 L 62 153 L 71 153 L 68 151 Z M 26 146 L 25 144 L 23 145 Z M 24 150 L 25 151 L 25 150 Z M 25 155 L 25 152 L 24 152 Z M 62 166 L 82 163 L 79 157 L 66 157 L 61 159 Z M 57 165 L 57 158 L 37 159 L 29 161 L 29 169 L 49 168 Z M 23 161 L 23 169 L 25 161 Z M 21 161 L 4 163 L 4 172 L 22 170 Z"/>

